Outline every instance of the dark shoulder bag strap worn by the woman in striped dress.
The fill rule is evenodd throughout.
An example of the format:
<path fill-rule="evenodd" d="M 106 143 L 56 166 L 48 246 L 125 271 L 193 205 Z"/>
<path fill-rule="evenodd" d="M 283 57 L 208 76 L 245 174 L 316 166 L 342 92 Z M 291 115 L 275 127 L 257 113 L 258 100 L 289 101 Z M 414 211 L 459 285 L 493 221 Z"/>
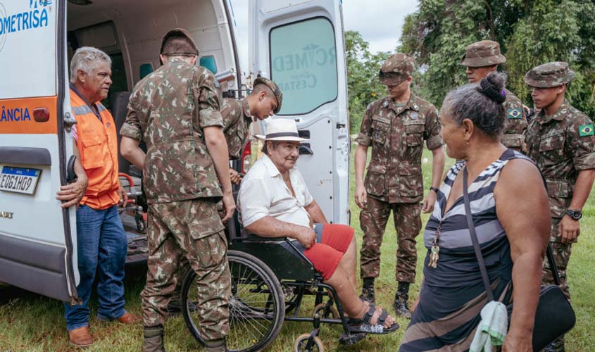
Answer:
<path fill-rule="evenodd" d="M 541 173 L 541 170 L 539 171 Z M 541 174 L 543 177 L 543 174 Z M 469 234 L 471 236 L 471 241 L 473 243 L 473 249 L 475 250 L 475 256 L 477 257 L 477 263 L 480 263 L 480 271 L 482 272 L 482 280 L 484 282 L 484 287 L 487 292 L 487 297 L 489 301 L 494 301 L 494 293 L 491 291 L 491 286 L 489 285 L 489 278 L 487 276 L 487 270 L 484 262 L 484 257 L 482 256 L 482 251 L 480 249 L 480 243 L 477 240 L 477 233 L 475 232 L 475 225 L 473 224 L 473 218 L 471 214 L 471 206 L 469 202 L 469 194 L 467 190 L 467 166 L 463 168 L 463 201 L 465 201 L 465 215 L 467 217 L 467 226 L 469 227 Z M 544 178 L 545 183 L 545 178 Z M 547 189 L 547 185 L 546 185 Z M 553 258 L 553 252 L 551 250 L 551 246 L 548 242 L 548 246 L 546 248 L 546 256 L 549 262 L 549 268 L 551 270 L 551 274 L 553 277 L 553 283 L 556 286 L 560 286 L 560 276 L 558 275 L 558 265 L 556 265 L 556 261 Z"/>

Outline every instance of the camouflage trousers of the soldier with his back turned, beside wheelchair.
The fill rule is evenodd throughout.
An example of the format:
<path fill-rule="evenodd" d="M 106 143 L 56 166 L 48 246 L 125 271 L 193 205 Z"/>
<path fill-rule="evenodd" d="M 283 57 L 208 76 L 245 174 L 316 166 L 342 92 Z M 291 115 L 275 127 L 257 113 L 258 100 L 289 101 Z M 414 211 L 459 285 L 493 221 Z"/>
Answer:
<path fill-rule="evenodd" d="M 214 202 L 193 199 L 149 204 L 148 271 L 141 293 L 146 327 L 163 325 L 168 303 L 182 277 L 180 258 L 194 272 L 199 289 L 197 307 L 201 337 L 223 339 L 229 332 L 231 275 L 227 240 Z"/>

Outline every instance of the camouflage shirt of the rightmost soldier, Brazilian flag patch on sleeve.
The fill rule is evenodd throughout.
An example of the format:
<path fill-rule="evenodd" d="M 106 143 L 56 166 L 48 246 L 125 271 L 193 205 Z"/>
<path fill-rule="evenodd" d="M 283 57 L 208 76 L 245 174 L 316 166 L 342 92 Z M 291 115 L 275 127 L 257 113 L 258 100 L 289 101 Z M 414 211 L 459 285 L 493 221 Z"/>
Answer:
<path fill-rule="evenodd" d="M 553 116 L 541 109 L 527 127 L 525 144 L 546 178 L 552 218 L 563 218 L 578 172 L 595 168 L 593 122 L 565 100 Z"/>

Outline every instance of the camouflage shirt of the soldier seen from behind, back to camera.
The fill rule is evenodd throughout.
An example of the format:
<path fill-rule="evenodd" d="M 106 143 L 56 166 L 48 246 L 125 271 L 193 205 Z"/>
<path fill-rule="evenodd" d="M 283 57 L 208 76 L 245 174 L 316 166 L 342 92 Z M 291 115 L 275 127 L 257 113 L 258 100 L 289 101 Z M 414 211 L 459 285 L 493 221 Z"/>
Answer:
<path fill-rule="evenodd" d="M 170 58 L 137 83 L 120 134 L 146 142 L 144 189 L 149 203 L 220 197 L 203 128 L 223 126 L 215 76 Z"/>

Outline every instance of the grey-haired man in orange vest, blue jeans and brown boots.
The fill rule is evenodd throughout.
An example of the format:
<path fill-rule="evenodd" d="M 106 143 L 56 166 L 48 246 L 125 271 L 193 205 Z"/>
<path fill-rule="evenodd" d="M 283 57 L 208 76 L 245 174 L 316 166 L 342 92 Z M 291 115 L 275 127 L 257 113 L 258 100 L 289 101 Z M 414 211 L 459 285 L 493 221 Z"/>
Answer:
<path fill-rule="evenodd" d="M 77 294 L 82 303 L 65 305 L 65 318 L 70 344 L 80 347 L 93 343 L 87 303 L 96 272 L 98 318 L 125 324 L 140 320 L 124 309 L 127 238 L 118 204 L 125 203 L 127 196 L 118 179 L 115 123 L 99 102 L 108 96 L 111 83 L 111 59 L 107 54 L 87 46 L 75 52 L 70 63 L 70 106 L 77 120 L 73 139 L 88 185 L 77 208 Z M 76 191 L 80 187 L 73 186 L 73 193 Z"/>

